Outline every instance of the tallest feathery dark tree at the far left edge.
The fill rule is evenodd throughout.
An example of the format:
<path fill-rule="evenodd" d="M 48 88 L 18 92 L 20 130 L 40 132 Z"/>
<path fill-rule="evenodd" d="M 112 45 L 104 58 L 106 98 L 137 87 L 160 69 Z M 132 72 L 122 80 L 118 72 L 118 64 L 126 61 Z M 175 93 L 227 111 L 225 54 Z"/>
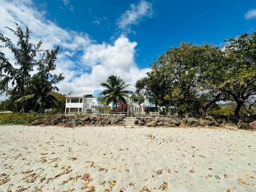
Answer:
<path fill-rule="evenodd" d="M 10 38 L 0 33 L 0 41 L 4 43 L 0 48 L 9 49 L 14 56 L 14 61 L 12 62 L 0 51 L 0 91 L 1 94 L 10 95 L 14 100 L 25 95 L 28 80 L 31 77 L 30 72 L 35 66 L 36 54 L 42 44 L 41 41 L 37 45 L 29 43 L 30 31 L 28 27 L 26 27 L 24 33 L 17 23 L 15 25 L 17 26 L 16 30 L 9 27 L 6 28 L 18 37 L 17 46 L 12 43 Z M 12 89 L 10 89 L 10 85 Z M 23 109 L 25 107 L 24 104 L 22 106 Z"/>

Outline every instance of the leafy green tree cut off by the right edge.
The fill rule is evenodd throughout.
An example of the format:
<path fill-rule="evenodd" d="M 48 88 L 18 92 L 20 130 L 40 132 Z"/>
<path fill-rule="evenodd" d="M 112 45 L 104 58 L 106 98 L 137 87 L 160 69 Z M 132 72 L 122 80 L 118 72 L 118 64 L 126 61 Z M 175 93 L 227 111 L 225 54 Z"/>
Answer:
<path fill-rule="evenodd" d="M 224 50 L 226 62 L 223 68 L 226 78 L 221 88 L 236 102 L 234 115 L 238 116 L 246 102 L 251 101 L 251 106 L 255 103 L 256 33 L 245 33 L 228 39 Z"/>

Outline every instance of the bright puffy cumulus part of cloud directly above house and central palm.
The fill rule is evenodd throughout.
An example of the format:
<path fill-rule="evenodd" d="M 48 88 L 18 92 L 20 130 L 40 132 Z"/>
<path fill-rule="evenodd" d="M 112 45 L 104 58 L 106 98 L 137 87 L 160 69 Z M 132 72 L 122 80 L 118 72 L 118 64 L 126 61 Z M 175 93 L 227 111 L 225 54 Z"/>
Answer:
<path fill-rule="evenodd" d="M 125 83 L 132 84 L 131 90 L 135 90 L 135 82 L 146 76 L 149 68 L 139 69 L 134 61 L 135 46 L 137 43 L 130 42 L 124 36 L 116 39 L 113 45 L 91 44 L 88 46 L 83 55 L 83 66 L 89 67 L 91 73 L 84 73 L 76 77 L 72 82 L 62 82 L 59 87 L 66 90 L 73 87 L 72 90 L 88 90 L 102 89 L 101 82 L 105 82 L 108 76 L 120 76 Z"/>

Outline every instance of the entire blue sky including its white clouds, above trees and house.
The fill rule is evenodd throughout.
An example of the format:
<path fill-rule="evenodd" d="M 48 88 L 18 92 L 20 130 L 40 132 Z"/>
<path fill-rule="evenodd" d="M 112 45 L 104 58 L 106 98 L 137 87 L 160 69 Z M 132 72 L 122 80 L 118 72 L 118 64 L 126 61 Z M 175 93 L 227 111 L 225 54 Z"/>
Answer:
<path fill-rule="evenodd" d="M 15 39 L 4 28 L 15 21 L 44 49 L 60 45 L 61 93 L 101 89 L 109 75 L 134 85 L 157 55 L 181 42 L 221 46 L 256 30 L 255 0 L 0 0 L 0 12 L 6 36 Z"/>

